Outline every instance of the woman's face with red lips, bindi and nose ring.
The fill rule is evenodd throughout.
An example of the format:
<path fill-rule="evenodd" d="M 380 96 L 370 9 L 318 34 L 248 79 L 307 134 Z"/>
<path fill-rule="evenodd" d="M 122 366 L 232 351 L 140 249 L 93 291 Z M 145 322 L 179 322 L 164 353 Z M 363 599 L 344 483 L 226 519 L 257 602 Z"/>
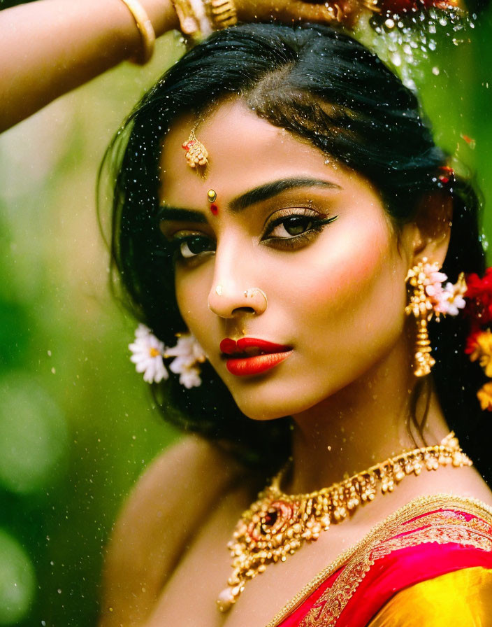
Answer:
<path fill-rule="evenodd" d="M 296 414 L 354 383 L 403 341 L 405 237 L 398 246 L 366 178 L 241 101 L 227 101 L 196 130 L 209 153 L 206 176 L 189 167 L 182 148 L 193 125 L 176 124 L 161 157 L 161 230 L 180 239 L 182 317 L 247 416 Z M 221 342 L 243 337 L 285 352 L 228 361 Z M 262 369 L 266 362 L 276 365 Z"/>

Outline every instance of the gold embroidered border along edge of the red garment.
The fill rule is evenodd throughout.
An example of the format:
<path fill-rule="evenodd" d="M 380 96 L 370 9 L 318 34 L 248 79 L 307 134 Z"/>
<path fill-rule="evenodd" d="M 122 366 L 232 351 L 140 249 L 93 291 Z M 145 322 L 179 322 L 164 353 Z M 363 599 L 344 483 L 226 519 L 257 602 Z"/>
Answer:
<path fill-rule="evenodd" d="M 390 542 L 386 544 L 381 551 L 378 552 L 377 555 L 372 554 L 373 549 L 375 549 L 379 544 L 384 542 L 388 543 L 391 538 L 399 533 L 410 532 L 419 527 L 423 526 L 422 521 L 414 521 L 413 524 L 405 526 L 406 523 L 409 523 L 416 516 L 422 516 L 424 514 L 431 514 L 431 512 L 435 509 L 454 509 L 458 508 L 462 512 L 466 514 L 472 514 L 473 516 L 477 516 L 484 521 L 486 521 L 486 525 L 481 523 L 481 521 L 470 521 L 466 523 L 465 518 L 453 515 L 446 515 L 445 512 L 437 512 L 435 516 L 433 516 L 432 520 L 427 520 L 428 525 L 436 523 L 441 525 L 451 525 L 451 530 L 448 533 L 442 533 L 442 530 L 435 530 L 433 526 L 428 527 L 429 532 L 419 533 L 417 536 L 412 534 L 412 540 L 405 540 L 405 538 L 410 538 L 410 536 L 403 535 L 402 538 L 396 538 L 396 542 Z M 444 515 L 442 515 L 444 514 Z M 425 524 L 425 523 L 424 523 Z M 405 526 L 405 528 L 402 528 Z M 468 530 L 468 533 L 466 530 Z M 474 532 L 474 539 L 470 539 L 470 530 Z M 345 605 L 349 598 L 352 596 L 357 586 L 363 579 L 366 570 L 365 568 L 370 567 L 371 563 L 374 563 L 374 560 L 382 557 L 383 555 L 387 555 L 391 553 L 391 551 L 396 550 L 397 548 L 403 548 L 405 546 L 410 546 L 412 544 L 419 544 L 420 542 L 465 542 L 467 544 L 472 544 L 473 546 L 479 547 L 481 549 L 492 550 L 492 507 L 485 505 L 479 499 L 458 496 L 454 494 L 447 493 L 439 493 L 431 496 L 423 496 L 418 497 L 410 502 L 408 502 L 400 509 L 397 509 L 396 512 L 390 514 L 384 521 L 381 521 L 377 524 L 372 530 L 369 531 L 359 542 L 354 544 L 353 547 L 344 551 L 338 558 L 335 559 L 331 564 L 329 564 L 324 570 L 316 575 L 308 584 L 303 586 L 303 588 L 292 598 L 289 603 L 284 605 L 282 610 L 278 612 L 273 620 L 271 620 L 266 627 L 277 627 L 279 626 L 284 619 L 286 619 L 291 612 L 293 612 L 296 607 L 301 605 L 303 601 L 310 596 L 312 592 L 314 592 L 317 587 L 324 582 L 328 577 L 333 575 L 333 572 L 338 570 L 343 564 L 349 563 L 349 561 L 356 556 L 356 554 L 361 553 L 361 556 L 357 556 L 352 568 L 350 568 L 350 574 L 347 577 L 343 577 L 343 581 L 338 579 L 342 577 L 344 573 L 340 574 L 340 577 L 337 579 L 337 582 L 333 584 L 331 589 L 328 589 L 319 600 L 323 600 L 325 596 L 332 596 L 335 599 L 335 603 L 330 603 L 329 614 L 331 617 L 327 617 L 327 621 L 317 621 L 316 623 L 312 621 L 306 621 L 307 617 L 301 623 L 301 626 L 309 626 L 312 624 L 316 627 L 328 627 L 335 625 L 336 619 L 340 616 Z M 355 577 L 355 579 L 350 581 L 350 577 Z M 335 590 L 335 586 L 337 590 Z M 345 587 L 344 587 L 345 586 Z"/>

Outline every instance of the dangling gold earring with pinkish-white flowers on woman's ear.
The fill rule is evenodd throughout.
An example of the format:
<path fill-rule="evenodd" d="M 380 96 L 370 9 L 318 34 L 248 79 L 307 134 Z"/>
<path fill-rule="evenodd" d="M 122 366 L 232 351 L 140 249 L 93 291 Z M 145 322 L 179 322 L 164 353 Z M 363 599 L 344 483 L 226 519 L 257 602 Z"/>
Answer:
<path fill-rule="evenodd" d="M 414 265 L 405 281 L 412 286 L 410 303 L 405 307 L 405 314 L 417 318 L 417 339 L 415 341 L 414 375 L 426 376 L 431 372 L 435 359 L 431 355 L 431 340 L 428 334 L 428 322 L 435 316 L 456 316 L 458 309 L 465 307 L 463 296 L 466 292 L 465 275 L 458 276 L 456 283 L 446 283 L 447 275 L 440 272 L 437 262 L 429 263 L 427 258 Z"/>

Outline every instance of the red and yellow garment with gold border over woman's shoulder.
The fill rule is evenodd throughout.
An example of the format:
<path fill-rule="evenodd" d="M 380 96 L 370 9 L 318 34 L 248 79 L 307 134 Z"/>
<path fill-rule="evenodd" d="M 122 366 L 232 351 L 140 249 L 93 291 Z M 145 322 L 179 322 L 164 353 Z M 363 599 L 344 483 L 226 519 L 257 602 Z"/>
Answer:
<path fill-rule="evenodd" d="M 267 627 L 492 626 L 492 509 L 413 500 L 319 573 Z"/>

